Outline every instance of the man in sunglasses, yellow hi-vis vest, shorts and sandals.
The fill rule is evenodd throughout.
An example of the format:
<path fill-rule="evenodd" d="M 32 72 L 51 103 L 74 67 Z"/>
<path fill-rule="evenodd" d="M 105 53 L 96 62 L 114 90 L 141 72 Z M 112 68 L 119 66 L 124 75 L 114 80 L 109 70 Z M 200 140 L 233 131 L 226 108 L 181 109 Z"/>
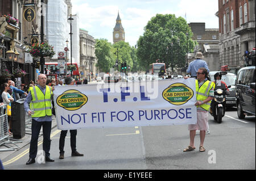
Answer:
<path fill-rule="evenodd" d="M 208 125 L 208 111 L 210 108 L 210 102 L 214 98 L 214 82 L 210 82 L 207 79 L 207 69 L 199 68 L 197 70 L 197 79 L 196 79 L 196 104 L 197 107 L 197 124 L 189 124 L 189 136 L 190 144 L 183 151 L 192 151 L 195 148 L 194 140 L 196 136 L 196 130 L 200 130 L 200 151 L 205 151 L 204 148 L 204 139 L 205 132 L 207 131 Z M 184 77 L 187 79 L 188 77 Z"/>

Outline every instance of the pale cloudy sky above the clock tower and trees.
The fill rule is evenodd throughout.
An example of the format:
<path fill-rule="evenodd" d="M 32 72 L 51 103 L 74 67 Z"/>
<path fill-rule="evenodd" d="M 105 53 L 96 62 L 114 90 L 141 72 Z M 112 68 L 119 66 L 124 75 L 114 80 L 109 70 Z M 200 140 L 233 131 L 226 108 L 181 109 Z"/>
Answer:
<path fill-rule="evenodd" d="M 72 14 L 79 15 L 80 28 L 94 39 L 113 43 L 113 29 L 118 11 L 125 30 L 125 41 L 135 46 L 144 27 L 156 14 L 175 14 L 188 23 L 205 23 L 218 28 L 217 0 L 71 0 Z"/>

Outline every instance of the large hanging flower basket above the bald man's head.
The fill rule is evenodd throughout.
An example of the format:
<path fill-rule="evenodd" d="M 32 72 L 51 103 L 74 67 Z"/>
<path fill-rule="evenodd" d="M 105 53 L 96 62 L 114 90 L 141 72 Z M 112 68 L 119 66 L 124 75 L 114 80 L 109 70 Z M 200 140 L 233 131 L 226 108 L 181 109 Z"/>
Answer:
<path fill-rule="evenodd" d="M 47 43 L 32 44 L 32 47 L 29 50 L 29 52 L 32 57 L 50 57 L 50 58 L 52 58 L 55 55 L 53 47 Z"/>

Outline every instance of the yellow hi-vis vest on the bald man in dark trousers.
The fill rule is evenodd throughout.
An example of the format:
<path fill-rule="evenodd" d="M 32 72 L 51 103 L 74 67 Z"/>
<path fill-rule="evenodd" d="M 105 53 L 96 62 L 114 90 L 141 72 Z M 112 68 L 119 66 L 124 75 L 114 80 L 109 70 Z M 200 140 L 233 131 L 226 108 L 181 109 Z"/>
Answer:
<path fill-rule="evenodd" d="M 51 104 L 51 87 L 46 86 L 46 93 L 42 92 L 38 86 L 30 87 L 32 100 L 30 109 L 34 110 L 34 114 L 31 117 L 44 117 L 52 116 L 52 104 Z"/>

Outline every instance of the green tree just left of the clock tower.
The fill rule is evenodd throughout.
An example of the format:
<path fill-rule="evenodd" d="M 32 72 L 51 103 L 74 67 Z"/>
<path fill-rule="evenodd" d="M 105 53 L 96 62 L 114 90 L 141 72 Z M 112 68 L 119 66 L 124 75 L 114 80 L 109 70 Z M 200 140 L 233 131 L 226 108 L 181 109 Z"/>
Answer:
<path fill-rule="evenodd" d="M 108 40 L 96 40 L 95 55 L 98 59 L 96 66 L 101 72 L 109 72 L 110 68 L 114 65 L 114 60 L 110 54 L 111 49 L 112 45 Z"/>

